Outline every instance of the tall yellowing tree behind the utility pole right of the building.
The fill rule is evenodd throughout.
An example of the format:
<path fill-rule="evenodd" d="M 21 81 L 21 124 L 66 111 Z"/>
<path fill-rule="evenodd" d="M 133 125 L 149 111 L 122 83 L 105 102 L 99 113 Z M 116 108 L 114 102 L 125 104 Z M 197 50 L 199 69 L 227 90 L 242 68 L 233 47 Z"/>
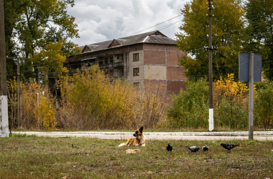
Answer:
<path fill-rule="evenodd" d="M 204 0 L 192 0 L 181 10 L 184 18 L 176 34 L 179 49 L 187 56 L 179 59 L 185 66 L 185 75 L 197 79 L 208 75 L 208 5 Z M 219 78 L 238 71 L 238 52 L 242 50 L 245 36 L 244 8 L 241 0 L 216 1 L 212 9 L 212 65 L 214 77 Z"/>

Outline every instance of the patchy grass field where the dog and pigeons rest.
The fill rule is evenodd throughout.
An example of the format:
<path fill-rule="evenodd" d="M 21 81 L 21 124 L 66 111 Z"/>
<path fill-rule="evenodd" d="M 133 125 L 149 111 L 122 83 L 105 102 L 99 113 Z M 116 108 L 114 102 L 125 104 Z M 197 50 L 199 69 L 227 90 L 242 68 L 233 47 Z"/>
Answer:
<path fill-rule="evenodd" d="M 13 134 L 0 138 L 0 178 L 273 178 L 272 140 L 148 140 L 138 154 L 117 147 L 124 141 Z M 221 142 L 241 146 L 227 152 Z"/>

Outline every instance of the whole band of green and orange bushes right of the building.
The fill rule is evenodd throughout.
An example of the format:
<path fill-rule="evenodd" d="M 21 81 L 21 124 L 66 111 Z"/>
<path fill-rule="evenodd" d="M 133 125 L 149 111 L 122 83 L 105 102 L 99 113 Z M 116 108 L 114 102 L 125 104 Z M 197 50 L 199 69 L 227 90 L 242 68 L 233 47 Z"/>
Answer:
<path fill-rule="evenodd" d="M 208 83 L 206 79 L 188 81 L 187 90 L 173 97 L 168 108 L 168 121 L 173 127 L 206 128 L 208 125 Z M 264 81 L 257 91 L 254 87 L 254 125 L 258 128 L 272 128 L 273 84 Z M 234 80 L 233 74 L 227 79 L 213 83 L 214 126 L 244 129 L 248 126 L 248 86 Z"/>

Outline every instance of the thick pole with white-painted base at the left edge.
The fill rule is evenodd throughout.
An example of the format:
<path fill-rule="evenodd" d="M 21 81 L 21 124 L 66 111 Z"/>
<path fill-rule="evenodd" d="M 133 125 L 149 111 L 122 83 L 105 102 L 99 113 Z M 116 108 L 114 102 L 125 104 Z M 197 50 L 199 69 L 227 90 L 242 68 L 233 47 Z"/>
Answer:
<path fill-rule="evenodd" d="M 4 0 L 0 0 L 0 137 L 8 137 L 8 95 L 4 25 Z"/>

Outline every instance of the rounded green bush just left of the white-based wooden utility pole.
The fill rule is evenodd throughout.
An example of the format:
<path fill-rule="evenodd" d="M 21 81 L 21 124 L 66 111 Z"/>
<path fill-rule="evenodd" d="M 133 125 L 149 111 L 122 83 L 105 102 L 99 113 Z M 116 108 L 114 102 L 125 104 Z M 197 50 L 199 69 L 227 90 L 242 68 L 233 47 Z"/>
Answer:
<path fill-rule="evenodd" d="M 173 96 L 167 116 L 172 127 L 208 126 L 208 84 L 206 79 L 188 81 L 187 90 Z"/>

